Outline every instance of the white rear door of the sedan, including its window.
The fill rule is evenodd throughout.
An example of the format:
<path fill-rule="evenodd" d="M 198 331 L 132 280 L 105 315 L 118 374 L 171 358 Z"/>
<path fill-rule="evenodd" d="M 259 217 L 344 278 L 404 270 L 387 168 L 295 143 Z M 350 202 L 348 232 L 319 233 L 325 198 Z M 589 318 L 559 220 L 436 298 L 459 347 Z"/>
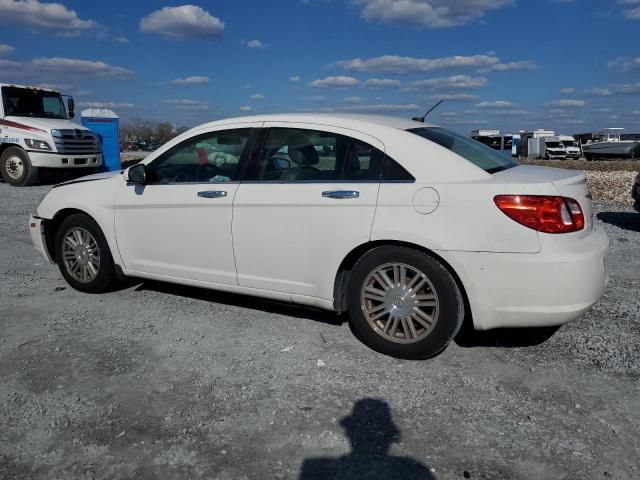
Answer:
<path fill-rule="evenodd" d="M 340 262 L 369 241 L 384 145 L 326 125 L 267 122 L 238 187 L 241 286 L 330 300 Z"/>

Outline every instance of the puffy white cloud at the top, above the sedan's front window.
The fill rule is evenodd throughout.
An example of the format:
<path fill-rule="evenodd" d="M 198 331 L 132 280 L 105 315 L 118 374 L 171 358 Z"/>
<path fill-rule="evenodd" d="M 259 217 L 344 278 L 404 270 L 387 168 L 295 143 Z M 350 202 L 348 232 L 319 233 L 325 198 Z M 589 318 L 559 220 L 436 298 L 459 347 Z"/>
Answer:
<path fill-rule="evenodd" d="M 215 39 L 222 36 L 224 22 L 195 5 L 164 7 L 140 20 L 140 30 L 174 40 Z"/>

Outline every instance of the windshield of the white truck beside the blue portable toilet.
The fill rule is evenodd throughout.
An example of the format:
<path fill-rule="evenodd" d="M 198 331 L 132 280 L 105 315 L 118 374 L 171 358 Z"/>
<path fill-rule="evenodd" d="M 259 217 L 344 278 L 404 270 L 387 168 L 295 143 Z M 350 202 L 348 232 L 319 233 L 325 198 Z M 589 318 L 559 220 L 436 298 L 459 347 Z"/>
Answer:
<path fill-rule="evenodd" d="M 67 118 L 62 97 L 56 92 L 2 87 L 2 104 L 7 116 Z"/>

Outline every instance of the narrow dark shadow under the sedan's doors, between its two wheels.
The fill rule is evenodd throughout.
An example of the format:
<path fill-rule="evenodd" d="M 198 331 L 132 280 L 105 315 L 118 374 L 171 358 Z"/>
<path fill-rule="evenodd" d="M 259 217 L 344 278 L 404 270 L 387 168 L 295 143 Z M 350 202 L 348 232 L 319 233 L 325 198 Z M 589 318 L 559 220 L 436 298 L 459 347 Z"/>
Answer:
<path fill-rule="evenodd" d="M 177 285 L 173 283 L 144 280 L 135 289 L 141 292 L 145 290 L 163 293 L 165 295 L 175 295 L 179 297 L 192 298 L 211 303 L 220 303 L 234 307 L 250 308 L 260 310 L 265 313 L 276 315 L 287 315 L 294 318 L 309 319 L 329 325 L 342 325 L 348 321 L 346 315 L 337 315 L 334 312 L 319 310 L 312 307 L 305 307 L 293 303 L 279 302 L 276 300 L 266 300 L 248 295 L 236 293 L 220 292 L 205 288 Z"/>

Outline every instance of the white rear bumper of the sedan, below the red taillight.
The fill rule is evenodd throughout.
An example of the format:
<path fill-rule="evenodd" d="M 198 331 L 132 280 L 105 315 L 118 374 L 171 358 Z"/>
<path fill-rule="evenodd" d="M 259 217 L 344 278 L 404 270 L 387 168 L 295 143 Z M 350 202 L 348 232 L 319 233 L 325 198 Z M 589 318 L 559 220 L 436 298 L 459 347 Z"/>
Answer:
<path fill-rule="evenodd" d="M 547 240 L 537 254 L 442 252 L 464 284 L 476 329 L 562 325 L 602 296 L 609 280 L 604 231 L 596 226 L 560 242 L 566 245 Z"/>

